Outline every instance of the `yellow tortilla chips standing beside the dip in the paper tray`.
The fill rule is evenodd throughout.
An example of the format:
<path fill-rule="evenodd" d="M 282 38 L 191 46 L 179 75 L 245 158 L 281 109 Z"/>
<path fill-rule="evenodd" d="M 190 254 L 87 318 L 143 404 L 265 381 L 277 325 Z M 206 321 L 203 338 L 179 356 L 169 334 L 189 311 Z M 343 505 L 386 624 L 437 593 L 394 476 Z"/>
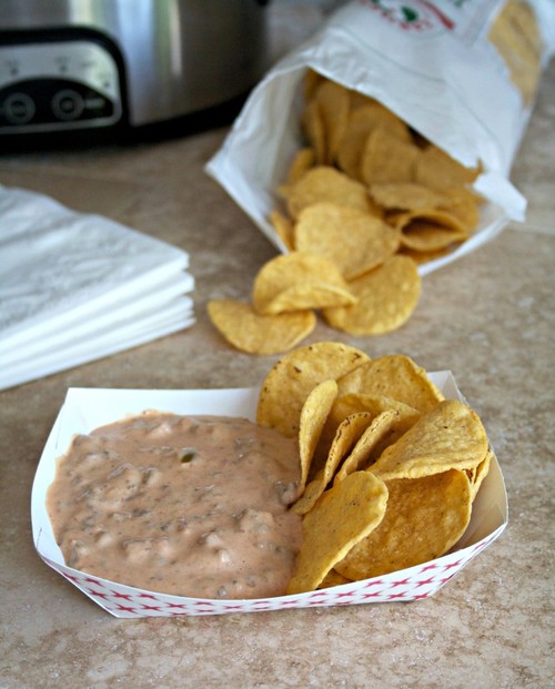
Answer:
<path fill-rule="evenodd" d="M 445 399 L 408 356 L 341 343 L 289 352 L 262 385 L 256 422 L 299 438 L 303 544 L 287 592 L 430 561 L 464 534 L 491 466 L 478 416 Z"/>

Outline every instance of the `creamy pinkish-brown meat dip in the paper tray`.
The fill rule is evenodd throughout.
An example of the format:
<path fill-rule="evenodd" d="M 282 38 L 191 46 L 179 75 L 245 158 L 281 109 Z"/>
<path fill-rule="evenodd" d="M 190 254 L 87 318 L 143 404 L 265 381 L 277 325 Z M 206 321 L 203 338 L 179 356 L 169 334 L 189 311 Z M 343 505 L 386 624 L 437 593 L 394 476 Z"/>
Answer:
<path fill-rule="evenodd" d="M 65 563 L 195 598 L 285 592 L 301 546 L 296 440 L 232 417 L 144 413 L 79 435 L 48 510 Z"/>

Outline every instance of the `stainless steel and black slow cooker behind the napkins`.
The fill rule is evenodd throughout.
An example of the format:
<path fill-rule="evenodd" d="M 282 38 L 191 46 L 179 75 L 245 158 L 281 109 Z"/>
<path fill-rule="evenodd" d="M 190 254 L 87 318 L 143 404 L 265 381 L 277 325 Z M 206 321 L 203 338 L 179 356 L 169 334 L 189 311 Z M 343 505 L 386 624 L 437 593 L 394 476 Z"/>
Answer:
<path fill-rule="evenodd" d="M 233 116 L 268 67 L 262 0 L 2 0 L 0 151 Z"/>

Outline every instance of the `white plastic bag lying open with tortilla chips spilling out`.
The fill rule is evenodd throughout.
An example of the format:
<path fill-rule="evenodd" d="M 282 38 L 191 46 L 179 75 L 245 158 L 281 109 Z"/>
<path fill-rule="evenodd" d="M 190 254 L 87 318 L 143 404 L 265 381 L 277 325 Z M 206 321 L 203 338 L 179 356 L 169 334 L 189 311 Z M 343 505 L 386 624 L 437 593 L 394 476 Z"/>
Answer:
<path fill-rule="evenodd" d="M 313 69 L 375 98 L 466 166 L 486 203 L 473 236 L 428 273 L 491 241 L 526 201 L 509 181 L 537 81 L 555 49 L 553 0 L 357 0 L 271 69 L 248 99 L 213 176 L 282 252 L 269 215 L 302 146 L 303 80 Z"/>

